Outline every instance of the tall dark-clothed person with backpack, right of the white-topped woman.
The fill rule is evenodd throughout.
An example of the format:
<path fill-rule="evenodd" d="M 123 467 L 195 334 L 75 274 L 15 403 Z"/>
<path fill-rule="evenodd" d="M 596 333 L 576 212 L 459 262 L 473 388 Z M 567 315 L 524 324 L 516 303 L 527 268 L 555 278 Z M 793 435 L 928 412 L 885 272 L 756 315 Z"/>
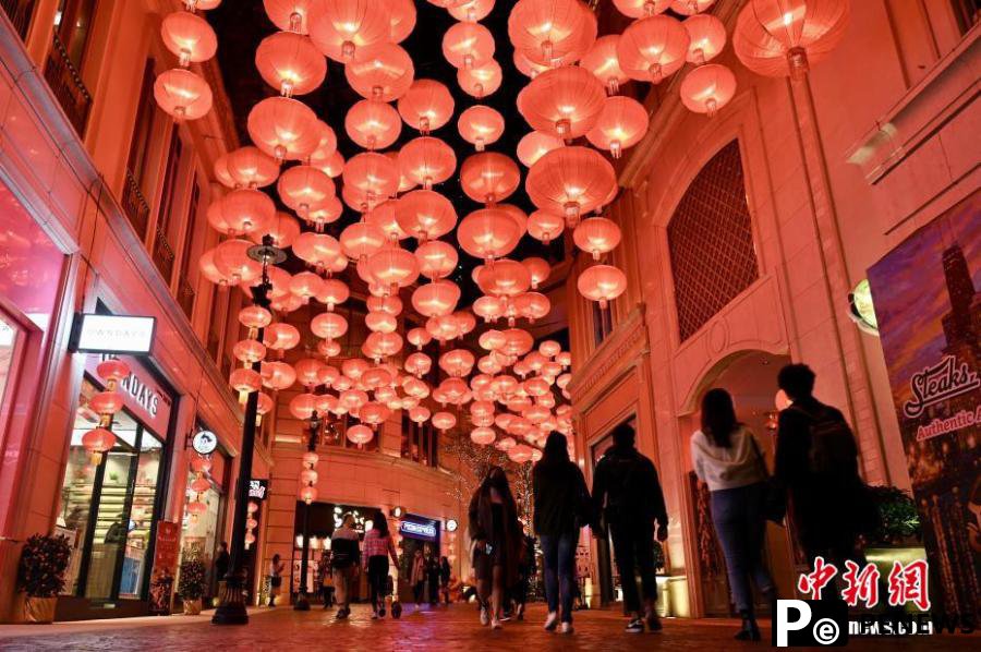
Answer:
<path fill-rule="evenodd" d="M 840 411 L 814 398 L 814 377 L 806 364 L 777 375 L 791 405 L 778 420 L 774 476 L 809 564 L 821 556 L 839 569 L 846 559 L 863 565 L 858 538 L 875 509 L 859 476 L 855 435 Z"/>

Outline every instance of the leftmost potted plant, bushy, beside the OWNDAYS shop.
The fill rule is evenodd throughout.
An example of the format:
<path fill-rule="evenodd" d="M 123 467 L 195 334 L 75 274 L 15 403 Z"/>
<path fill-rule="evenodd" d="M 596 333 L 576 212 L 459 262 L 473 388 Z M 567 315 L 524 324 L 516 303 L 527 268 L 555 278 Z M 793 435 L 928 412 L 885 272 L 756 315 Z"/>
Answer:
<path fill-rule="evenodd" d="M 24 544 L 17 567 L 17 585 L 26 593 L 26 623 L 55 620 L 55 604 L 64 588 L 64 570 L 71 555 L 72 548 L 64 536 L 35 534 Z"/>

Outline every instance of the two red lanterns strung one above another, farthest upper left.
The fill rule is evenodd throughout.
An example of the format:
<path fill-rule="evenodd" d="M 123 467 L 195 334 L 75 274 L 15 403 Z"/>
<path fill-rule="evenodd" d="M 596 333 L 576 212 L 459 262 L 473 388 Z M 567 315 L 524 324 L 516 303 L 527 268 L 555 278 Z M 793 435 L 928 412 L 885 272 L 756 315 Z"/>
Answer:
<path fill-rule="evenodd" d="M 208 61 L 218 50 L 215 31 L 195 11 L 214 9 L 219 3 L 220 0 L 185 0 L 186 11 L 168 14 L 160 25 L 164 45 L 178 57 L 178 67 L 157 75 L 154 98 L 175 121 L 197 120 L 211 110 L 211 87 L 191 70 L 191 64 Z"/>

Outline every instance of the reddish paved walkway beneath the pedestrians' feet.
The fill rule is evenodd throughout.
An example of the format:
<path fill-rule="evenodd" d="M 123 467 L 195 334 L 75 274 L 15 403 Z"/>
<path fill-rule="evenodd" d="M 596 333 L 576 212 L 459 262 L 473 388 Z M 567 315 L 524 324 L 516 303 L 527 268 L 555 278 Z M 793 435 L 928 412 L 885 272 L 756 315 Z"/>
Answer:
<path fill-rule="evenodd" d="M 271 613 L 254 613 L 244 627 L 216 627 L 208 616 L 134 618 L 99 623 L 64 623 L 50 626 L 0 626 L 0 650 L 120 650 L 195 651 L 219 650 L 423 650 L 437 652 L 483 652 L 504 650 L 763 650 L 770 648 L 770 629 L 764 628 L 762 643 L 739 643 L 731 636 L 734 620 L 669 619 L 661 633 L 623 633 L 623 619 L 614 611 L 578 612 L 576 633 L 564 636 L 542 630 L 542 605 L 533 605 L 522 623 L 506 623 L 492 631 L 481 627 L 470 605 L 424 608 L 410 607 L 399 620 L 372 620 L 365 605 L 354 605 L 348 620 L 335 620 L 334 612 L 314 607 L 308 613 L 277 607 Z M 855 650 L 979 650 L 981 639 L 971 637 L 930 637 L 903 640 L 862 640 L 848 645 Z"/>

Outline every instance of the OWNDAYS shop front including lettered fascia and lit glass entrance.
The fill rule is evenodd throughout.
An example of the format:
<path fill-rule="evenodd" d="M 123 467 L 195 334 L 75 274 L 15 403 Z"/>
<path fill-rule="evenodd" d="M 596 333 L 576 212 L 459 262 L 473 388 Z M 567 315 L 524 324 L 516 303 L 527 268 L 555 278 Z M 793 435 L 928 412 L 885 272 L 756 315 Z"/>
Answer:
<path fill-rule="evenodd" d="M 143 359 L 122 357 L 130 375 L 119 383 L 123 409 L 114 414 L 116 443 L 93 455 L 83 437 L 97 427 L 89 406 L 105 389 L 96 373 L 105 354 L 86 357 L 71 431 L 56 534 L 72 557 L 56 618 L 78 620 L 144 615 L 171 456 L 173 391 Z"/>

